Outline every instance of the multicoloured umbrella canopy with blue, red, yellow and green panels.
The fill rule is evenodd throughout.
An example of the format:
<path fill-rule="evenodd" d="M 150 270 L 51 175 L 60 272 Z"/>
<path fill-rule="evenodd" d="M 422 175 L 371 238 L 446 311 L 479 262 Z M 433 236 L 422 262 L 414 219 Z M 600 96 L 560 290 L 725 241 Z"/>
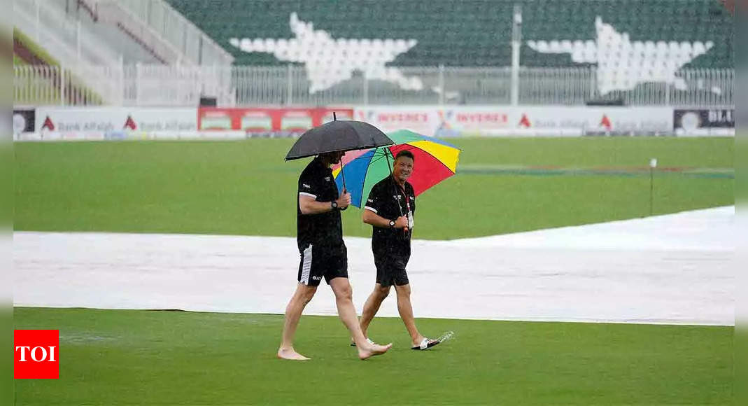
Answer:
<path fill-rule="evenodd" d="M 361 209 L 361 201 L 369 196 L 376 182 L 390 175 L 393 157 L 402 150 L 409 150 L 415 158 L 408 182 L 413 185 L 416 196 L 455 174 L 461 151 L 454 145 L 404 129 L 391 132 L 387 137 L 395 144 L 349 151 L 340 160 L 341 164 L 332 168 L 338 190 L 343 190 L 345 182 L 353 206 Z"/>

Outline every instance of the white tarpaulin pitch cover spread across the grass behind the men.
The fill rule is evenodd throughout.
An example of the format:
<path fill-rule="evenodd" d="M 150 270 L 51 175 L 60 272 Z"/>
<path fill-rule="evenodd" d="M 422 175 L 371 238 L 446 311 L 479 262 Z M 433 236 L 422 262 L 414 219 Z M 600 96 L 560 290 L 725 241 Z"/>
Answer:
<path fill-rule="evenodd" d="M 735 208 L 452 241 L 414 240 L 416 317 L 735 325 Z M 416 234 L 417 235 L 417 234 Z M 370 239 L 346 237 L 358 312 Z M 13 304 L 283 313 L 293 238 L 13 234 Z M 378 316 L 397 316 L 394 292 Z M 335 315 L 324 283 L 304 314 Z"/>

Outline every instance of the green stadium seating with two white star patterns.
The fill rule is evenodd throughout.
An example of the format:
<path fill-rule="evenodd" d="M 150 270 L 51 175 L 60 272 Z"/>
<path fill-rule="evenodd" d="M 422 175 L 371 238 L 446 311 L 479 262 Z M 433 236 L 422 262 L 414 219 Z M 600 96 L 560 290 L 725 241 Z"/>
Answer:
<path fill-rule="evenodd" d="M 391 94 L 392 85 L 403 92 L 398 99 L 415 102 L 509 102 L 509 73 L 485 70 L 512 65 L 518 4 L 521 102 L 730 99 L 721 73 L 683 72 L 734 67 L 732 15 L 722 0 L 169 1 L 232 52 L 235 64 L 303 66 L 310 94 L 350 93 L 346 87 L 361 87 L 361 72 L 376 81 L 370 102 L 386 101 L 376 93 Z M 419 70 L 440 66 L 447 73 Z M 483 71 L 450 76 L 462 67 Z M 549 97 L 560 82 L 565 90 Z"/>

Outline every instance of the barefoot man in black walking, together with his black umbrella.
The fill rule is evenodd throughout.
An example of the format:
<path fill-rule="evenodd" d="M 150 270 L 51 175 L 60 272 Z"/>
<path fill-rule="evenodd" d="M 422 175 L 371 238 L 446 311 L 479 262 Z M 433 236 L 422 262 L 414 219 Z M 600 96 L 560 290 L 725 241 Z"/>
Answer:
<path fill-rule="evenodd" d="M 295 351 L 293 338 L 301 313 L 312 300 L 323 277 L 335 294 L 338 316 L 358 347 L 358 357 L 365 360 L 384 354 L 392 347 L 391 343 L 376 345 L 361 333 L 348 280 L 348 256 L 340 219 L 340 210 L 351 204 L 351 195 L 345 190 L 339 194 L 330 168 L 332 164 L 340 163 L 344 150 L 371 144 L 392 144 L 392 141 L 366 123 L 349 123 L 328 123 L 310 130 L 286 156 L 287 160 L 309 156 L 310 151 L 318 154 L 298 178 L 296 241 L 301 262 L 298 265 L 298 285 L 286 307 L 283 338 L 278 348 L 278 357 L 285 360 L 309 359 Z"/>

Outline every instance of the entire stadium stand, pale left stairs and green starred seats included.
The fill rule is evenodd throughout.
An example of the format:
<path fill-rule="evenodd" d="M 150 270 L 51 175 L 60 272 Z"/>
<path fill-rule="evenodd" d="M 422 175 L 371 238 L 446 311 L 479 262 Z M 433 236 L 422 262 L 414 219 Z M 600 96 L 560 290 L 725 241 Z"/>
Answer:
<path fill-rule="evenodd" d="M 74 103 L 733 103 L 726 0 L 13 2 L 14 28 L 100 96 Z M 19 99 L 70 92 L 41 88 L 46 76 L 16 69 Z"/>

